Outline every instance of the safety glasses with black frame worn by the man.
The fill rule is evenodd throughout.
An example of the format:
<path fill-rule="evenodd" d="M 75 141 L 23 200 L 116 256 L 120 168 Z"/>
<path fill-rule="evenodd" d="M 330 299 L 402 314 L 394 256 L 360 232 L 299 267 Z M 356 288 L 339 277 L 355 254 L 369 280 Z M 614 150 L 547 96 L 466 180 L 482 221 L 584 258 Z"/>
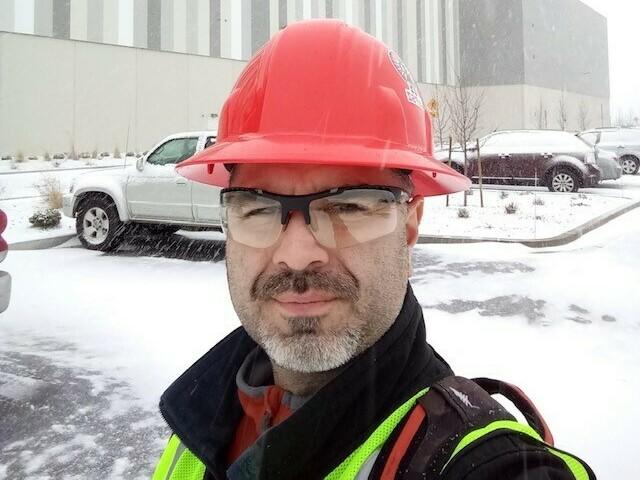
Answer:
<path fill-rule="evenodd" d="M 385 186 L 342 187 L 311 195 L 226 188 L 220 194 L 227 237 L 253 248 L 275 245 L 294 211 L 302 213 L 324 247 L 345 248 L 375 240 L 396 229 L 398 207 L 408 201 L 404 190 Z"/>

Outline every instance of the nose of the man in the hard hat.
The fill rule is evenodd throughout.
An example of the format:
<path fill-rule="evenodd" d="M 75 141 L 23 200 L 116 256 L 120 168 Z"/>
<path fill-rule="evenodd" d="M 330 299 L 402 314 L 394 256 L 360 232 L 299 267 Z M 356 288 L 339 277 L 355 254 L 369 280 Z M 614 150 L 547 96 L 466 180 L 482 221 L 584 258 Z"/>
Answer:
<path fill-rule="evenodd" d="M 301 212 L 293 212 L 287 228 L 280 235 L 273 253 L 273 263 L 303 271 L 329 262 L 329 253 L 315 239 Z"/>

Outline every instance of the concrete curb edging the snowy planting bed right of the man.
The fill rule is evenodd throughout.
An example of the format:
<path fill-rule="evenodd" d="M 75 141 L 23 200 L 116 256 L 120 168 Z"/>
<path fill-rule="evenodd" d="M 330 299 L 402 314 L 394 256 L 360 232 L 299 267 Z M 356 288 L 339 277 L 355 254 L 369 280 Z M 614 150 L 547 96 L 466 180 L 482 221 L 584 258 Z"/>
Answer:
<path fill-rule="evenodd" d="M 605 223 L 624 215 L 631 210 L 640 207 L 640 201 L 632 202 L 628 205 L 623 205 L 615 210 L 607 213 L 603 213 L 599 217 L 588 221 L 568 232 L 562 233 L 555 237 L 538 238 L 538 239 L 517 239 L 517 238 L 491 238 L 491 237 L 443 237 L 438 235 L 420 235 L 418 237 L 418 243 L 420 244 L 433 244 L 433 243 L 480 243 L 480 242 L 498 242 L 498 243 L 521 243 L 531 248 L 545 248 L 545 247 L 558 247 L 571 243 L 585 233 L 589 233 L 598 227 L 601 227 Z"/>

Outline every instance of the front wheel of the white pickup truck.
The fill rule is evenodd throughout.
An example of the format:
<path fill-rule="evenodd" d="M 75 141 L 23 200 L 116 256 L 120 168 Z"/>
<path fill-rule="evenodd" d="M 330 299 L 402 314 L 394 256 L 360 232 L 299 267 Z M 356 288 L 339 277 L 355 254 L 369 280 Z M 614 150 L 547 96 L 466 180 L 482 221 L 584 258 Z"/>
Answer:
<path fill-rule="evenodd" d="M 76 232 L 85 248 L 107 252 L 122 242 L 125 224 L 111 199 L 91 196 L 78 207 Z"/>

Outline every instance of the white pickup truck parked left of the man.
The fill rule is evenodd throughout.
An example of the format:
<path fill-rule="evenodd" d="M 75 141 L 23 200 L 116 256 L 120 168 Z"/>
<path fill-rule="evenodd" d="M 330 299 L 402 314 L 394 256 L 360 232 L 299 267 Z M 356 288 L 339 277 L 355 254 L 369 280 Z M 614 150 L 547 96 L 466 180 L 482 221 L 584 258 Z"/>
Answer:
<path fill-rule="evenodd" d="M 220 225 L 220 189 L 179 175 L 178 163 L 216 140 L 216 132 L 170 135 L 122 170 L 80 175 L 63 197 L 80 242 L 91 250 L 116 248 L 141 229 L 171 234 L 184 226 Z"/>

